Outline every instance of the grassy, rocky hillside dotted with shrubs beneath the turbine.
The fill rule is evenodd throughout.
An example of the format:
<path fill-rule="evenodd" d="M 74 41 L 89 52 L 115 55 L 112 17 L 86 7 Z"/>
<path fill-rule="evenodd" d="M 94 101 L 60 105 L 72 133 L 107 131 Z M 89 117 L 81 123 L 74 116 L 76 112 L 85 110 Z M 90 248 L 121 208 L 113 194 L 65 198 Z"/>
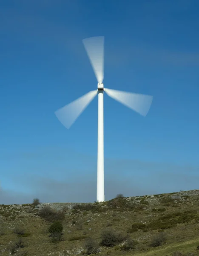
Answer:
<path fill-rule="evenodd" d="M 199 256 L 198 209 L 199 190 L 93 204 L 0 205 L 0 256 Z M 59 238 L 49 232 L 55 221 L 63 225 Z"/>

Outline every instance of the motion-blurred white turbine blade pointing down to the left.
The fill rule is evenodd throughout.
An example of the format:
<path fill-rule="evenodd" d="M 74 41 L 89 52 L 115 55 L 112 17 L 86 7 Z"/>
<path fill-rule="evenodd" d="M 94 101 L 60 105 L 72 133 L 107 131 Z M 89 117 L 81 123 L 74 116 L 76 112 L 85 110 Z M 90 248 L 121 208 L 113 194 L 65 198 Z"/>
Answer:
<path fill-rule="evenodd" d="M 85 110 L 88 104 L 97 95 L 97 90 L 90 91 L 86 93 L 79 99 L 74 100 L 63 108 L 55 111 L 55 115 L 60 120 L 60 122 L 69 129 L 71 125 L 75 122 L 78 116 Z"/>

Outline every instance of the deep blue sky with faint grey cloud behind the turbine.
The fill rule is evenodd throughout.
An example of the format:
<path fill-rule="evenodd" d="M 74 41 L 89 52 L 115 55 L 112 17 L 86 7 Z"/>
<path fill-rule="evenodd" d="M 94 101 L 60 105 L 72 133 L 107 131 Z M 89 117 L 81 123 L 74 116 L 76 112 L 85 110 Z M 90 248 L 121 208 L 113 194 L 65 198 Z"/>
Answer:
<path fill-rule="evenodd" d="M 144 118 L 107 95 L 105 199 L 197 189 L 197 0 L 0 1 L 0 201 L 96 200 L 97 89 L 82 39 L 105 36 L 104 86 L 153 95 Z"/>

